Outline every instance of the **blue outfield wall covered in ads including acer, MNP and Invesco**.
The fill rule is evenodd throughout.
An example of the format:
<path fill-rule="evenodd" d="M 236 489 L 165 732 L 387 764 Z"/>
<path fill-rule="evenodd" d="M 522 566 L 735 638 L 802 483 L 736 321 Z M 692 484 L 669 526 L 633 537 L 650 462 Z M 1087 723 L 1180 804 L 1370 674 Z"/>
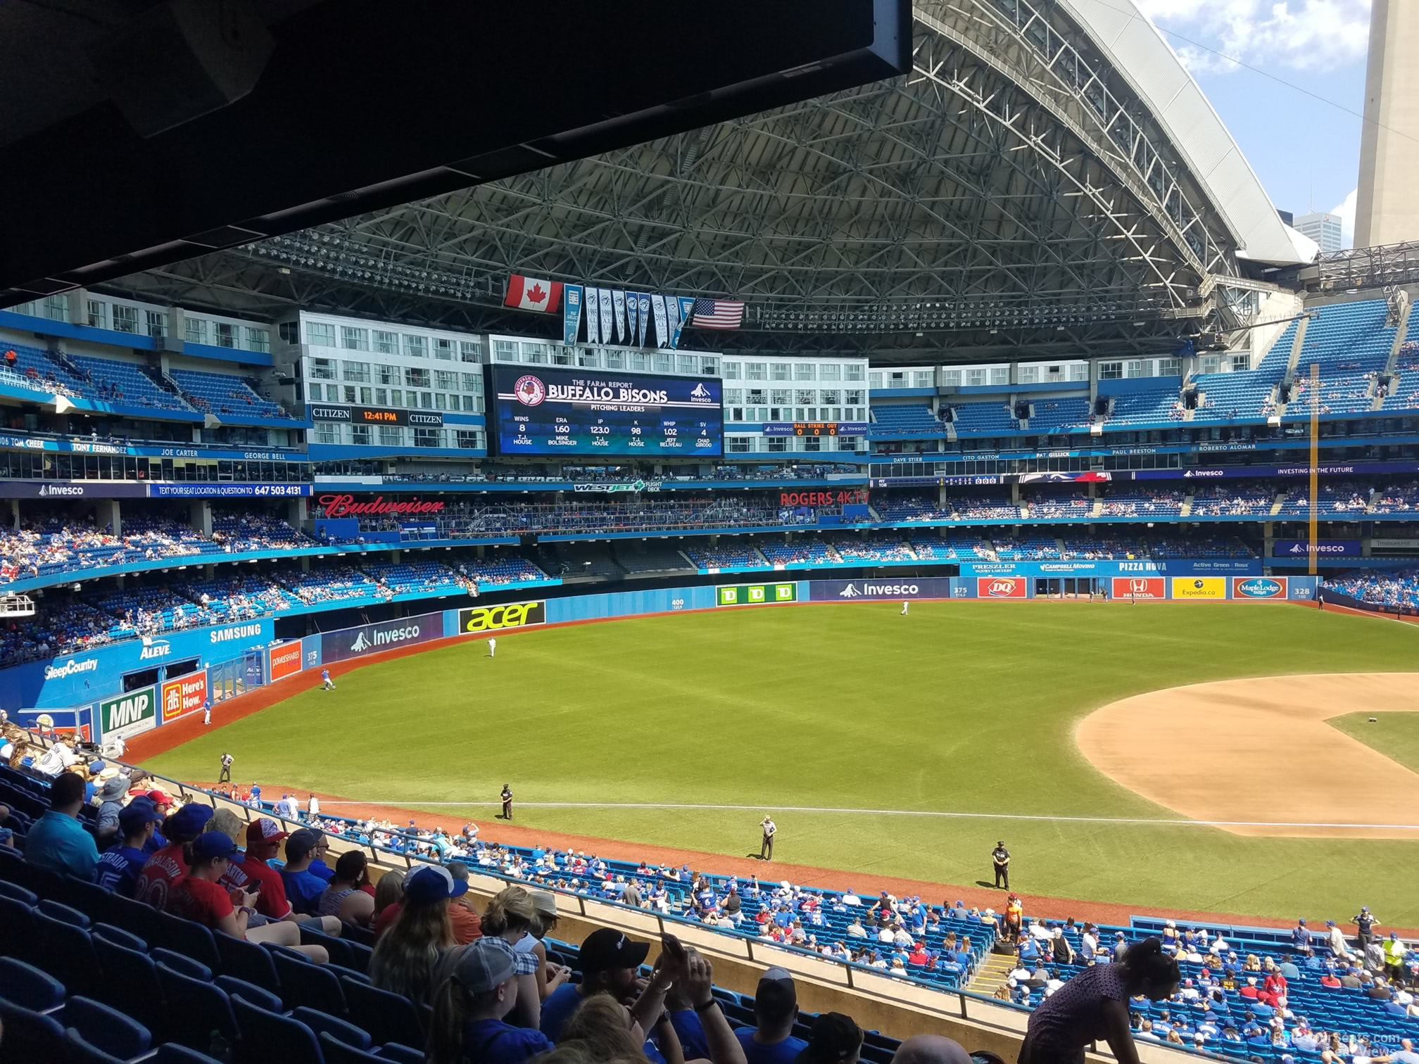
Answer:
<path fill-rule="evenodd" d="M 1006 566 L 1007 563 L 992 563 Z M 1019 563 L 985 576 L 884 576 L 856 580 L 759 579 L 717 586 L 667 587 L 517 599 L 397 617 L 304 638 L 277 641 L 268 620 L 221 624 L 133 640 L 82 654 L 0 671 L 0 706 L 33 726 L 47 712 L 61 729 L 96 739 L 132 736 L 250 688 L 326 664 L 460 636 L 488 637 L 548 624 L 578 624 L 741 606 L 829 602 L 1046 597 L 1051 563 Z M 1120 572 L 1130 562 L 1094 562 L 1090 577 L 1111 599 L 1138 602 L 1313 602 L 1314 576 L 1168 576 Z M 1025 570 L 1023 573 L 1019 570 Z M 169 675 L 169 668 L 172 675 Z"/>

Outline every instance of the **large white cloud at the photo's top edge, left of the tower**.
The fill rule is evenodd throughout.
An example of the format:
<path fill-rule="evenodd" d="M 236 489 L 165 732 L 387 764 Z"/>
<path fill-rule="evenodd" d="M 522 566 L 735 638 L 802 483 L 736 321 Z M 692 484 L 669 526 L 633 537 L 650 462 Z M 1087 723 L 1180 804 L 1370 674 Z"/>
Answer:
<path fill-rule="evenodd" d="M 1137 0 L 1164 30 L 1191 37 L 1243 62 L 1325 71 L 1362 60 L 1369 47 L 1369 0 Z M 1237 70 L 1222 55 L 1168 38 L 1193 74 Z"/>

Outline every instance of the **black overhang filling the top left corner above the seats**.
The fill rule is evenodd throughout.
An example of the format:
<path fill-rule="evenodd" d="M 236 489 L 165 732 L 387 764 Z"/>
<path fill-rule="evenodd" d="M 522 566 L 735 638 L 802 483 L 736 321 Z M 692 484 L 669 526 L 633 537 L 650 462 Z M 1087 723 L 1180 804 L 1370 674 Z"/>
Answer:
<path fill-rule="evenodd" d="M 79 7 L 0 7 L 0 305 L 860 85 L 910 33 L 907 0 Z"/>

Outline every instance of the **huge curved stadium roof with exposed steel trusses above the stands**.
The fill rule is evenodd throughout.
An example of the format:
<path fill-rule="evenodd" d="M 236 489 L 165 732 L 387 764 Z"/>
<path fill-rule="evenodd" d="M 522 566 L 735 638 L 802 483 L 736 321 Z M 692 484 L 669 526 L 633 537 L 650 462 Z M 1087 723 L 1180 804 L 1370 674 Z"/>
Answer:
<path fill-rule="evenodd" d="M 688 331 L 694 346 L 897 362 L 1171 350 L 1236 323 L 1216 291 L 1260 275 L 1246 234 L 1271 255 L 1286 237 L 1256 214 L 1259 184 L 1237 197 L 1220 123 L 1175 133 L 1196 115 L 1155 96 L 1192 82 L 1156 31 L 1100 24 L 1091 3 L 922 0 L 904 78 L 123 285 L 551 339 L 553 322 L 497 306 L 507 275 L 529 272 L 748 301 L 742 332 Z M 1118 67 L 1164 57 L 1172 81 Z"/>

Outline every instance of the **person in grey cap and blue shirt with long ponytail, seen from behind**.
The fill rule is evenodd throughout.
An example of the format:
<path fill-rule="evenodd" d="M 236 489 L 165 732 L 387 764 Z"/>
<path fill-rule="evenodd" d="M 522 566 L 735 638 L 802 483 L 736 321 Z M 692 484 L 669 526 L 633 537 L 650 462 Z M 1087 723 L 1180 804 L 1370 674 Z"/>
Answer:
<path fill-rule="evenodd" d="M 433 994 L 427 1060 L 460 1064 L 521 1064 L 552 1048 L 542 1031 L 514 1027 L 504 1017 L 518 1000 L 515 955 L 498 938 L 480 938 L 457 951 L 457 963 Z"/>

